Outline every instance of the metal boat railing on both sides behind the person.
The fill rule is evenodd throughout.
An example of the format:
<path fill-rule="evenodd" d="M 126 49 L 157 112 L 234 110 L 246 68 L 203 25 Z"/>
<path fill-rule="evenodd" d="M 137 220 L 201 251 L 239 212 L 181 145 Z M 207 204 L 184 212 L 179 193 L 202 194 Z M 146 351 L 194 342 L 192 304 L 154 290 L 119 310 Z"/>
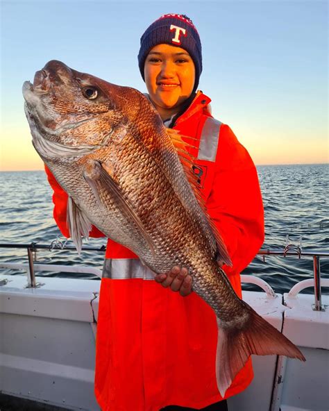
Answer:
<path fill-rule="evenodd" d="M 309 249 L 307 251 L 302 250 L 301 242 L 300 245 L 295 244 L 288 244 L 287 237 L 287 244 L 283 249 L 260 249 L 258 251 L 258 255 L 262 255 L 263 261 L 269 255 L 274 256 L 281 256 L 283 258 L 287 256 L 297 256 L 298 258 L 301 257 L 312 257 L 313 259 L 313 280 L 304 280 L 301 283 L 296 284 L 292 290 L 289 292 L 289 296 L 296 296 L 299 291 L 303 290 L 305 287 L 310 287 L 310 281 L 313 281 L 314 285 L 314 305 L 313 310 L 315 311 L 324 311 L 325 307 L 322 305 L 321 302 L 321 268 L 320 268 L 320 258 L 328 258 L 329 252 L 328 251 L 319 251 L 319 250 L 312 250 Z M 97 269 L 96 267 L 71 267 L 66 265 L 45 265 L 45 264 L 37 264 L 37 250 L 62 250 L 62 251 L 76 251 L 76 247 L 73 245 L 67 244 L 67 241 L 64 242 L 60 240 L 54 240 L 51 244 L 38 244 L 32 242 L 30 244 L 0 244 L 0 249 L 26 249 L 28 255 L 28 264 L 24 263 L 17 263 L 17 262 L 0 262 L 0 267 L 4 269 L 26 269 L 27 277 L 28 277 L 28 285 L 27 287 L 38 287 L 38 284 L 35 280 L 35 270 L 37 271 L 65 271 L 65 272 L 79 272 L 79 273 L 87 273 L 87 274 L 94 274 L 96 276 L 101 277 L 101 270 Z M 106 247 L 100 246 L 86 246 L 82 247 L 82 251 L 94 251 L 94 252 L 105 252 Z M 262 280 L 262 278 L 255 277 L 255 276 L 241 276 L 243 283 L 253 283 L 258 285 L 262 288 L 267 294 L 267 297 L 273 298 L 276 296 L 275 292 L 271 288 L 266 281 Z M 307 283 L 305 283 L 307 282 Z M 1 284 L 0 284 L 1 285 Z"/>

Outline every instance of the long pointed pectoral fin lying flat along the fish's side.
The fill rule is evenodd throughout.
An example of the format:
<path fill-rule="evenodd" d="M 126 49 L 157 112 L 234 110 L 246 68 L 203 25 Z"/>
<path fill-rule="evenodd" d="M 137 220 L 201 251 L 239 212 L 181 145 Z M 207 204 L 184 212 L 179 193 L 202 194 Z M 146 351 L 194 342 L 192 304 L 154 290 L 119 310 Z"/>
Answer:
<path fill-rule="evenodd" d="M 154 253 L 154 245 L 151 237 L 146 232 L 140 217 L 138 217 L 128 199 L 125 198 L 124 193 L 121 191 L 115 179 L 110 176 L 110 169 L 105 169 L 100 162 L 93 160 L 92 163 L 88 165 L 83 176 L 100 204 L 102 204 L 101 193 L 104 190 L 111 194 L 113 201 L 117 204 L 117 208 L 119 208 L 122 215 L 137 228 L 146 244 L 149 245 L 151 251 Z"/>

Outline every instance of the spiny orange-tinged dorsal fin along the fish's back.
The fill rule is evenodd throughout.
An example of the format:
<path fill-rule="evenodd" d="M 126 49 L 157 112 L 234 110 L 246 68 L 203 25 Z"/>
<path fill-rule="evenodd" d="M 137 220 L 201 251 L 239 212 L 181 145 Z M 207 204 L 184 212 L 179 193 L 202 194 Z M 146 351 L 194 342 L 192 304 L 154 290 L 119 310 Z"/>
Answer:
<path fill-rule="evenodd" d="M 201 207 L 201 210 L 203 211 L 205 218 L 207 219 L 208 224 L 214 235 L 214 239 L 217 244 L 217 253 L 219 254 L 219 258 L 217 260 L 224 262 L 228 266 L 232 266 L 230 255 L 228 255 L 228 251 L 226 249 L 226 245 L 223 242 L 223 239 L 221 238 L 221 234 L 219 233 L 217 226 L 215 226 L 214 222 L 210 218 L 207 208 L 205 207 L 205 198 L 201 191 L 201 186 L 198 181 L 198 176 L 196 176 L 196 174 L 193 172 L 193 169 L 192 169 L 192 165 L 195 164 L 196 158 L 191 153 L 189 153 L 189 151 L 187 150 L 188 149 L 198 149 L 198 147 L 184 142 L 182 137 L 185 137 L 191 140 L 196 140 L 196 139 L 194 137 L 182 136 L 180 135 L 180 133 L 178 133 L 178 131 L 173 130 L 172 128 L 167 128 L 166 131 L 171 139 L 171 142 L 174 144 L 174 147 L 178 154 L 178 158 L 180 159 L 180 162 L 183 165 L 183 170 L 185 171 L 185 176 L 187 178 L 187 181 L 189 182 L 189 185 L 191 186 L 194 192 L 196 200 L 198 201 Z"/>

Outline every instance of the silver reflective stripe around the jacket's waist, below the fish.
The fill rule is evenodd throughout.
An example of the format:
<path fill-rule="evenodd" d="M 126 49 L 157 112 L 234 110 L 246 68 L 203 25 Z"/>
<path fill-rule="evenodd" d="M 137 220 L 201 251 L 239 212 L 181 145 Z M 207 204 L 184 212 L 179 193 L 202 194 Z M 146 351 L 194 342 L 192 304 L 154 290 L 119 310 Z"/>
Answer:
<path fill-rule="evenodd" d="M 103 278 L 125 280 L 128 278 L 143 278 L 154 280 L 154 273 L 142 265 L 140 260 L 130 258 L 106 258 L 103 266 Z"/>

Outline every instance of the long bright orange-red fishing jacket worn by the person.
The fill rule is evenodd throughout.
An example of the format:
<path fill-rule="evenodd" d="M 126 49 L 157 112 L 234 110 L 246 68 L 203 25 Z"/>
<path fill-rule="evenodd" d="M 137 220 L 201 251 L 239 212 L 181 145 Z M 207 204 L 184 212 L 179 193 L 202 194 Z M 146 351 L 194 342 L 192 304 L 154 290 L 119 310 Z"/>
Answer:
<path fill-rule="evenodd" d="M 208 213 L 227 246 L 233 267 L 223 266 L 235 292 L 239 273 L 264 241 L 264 214 L 258 175 L 244 146 L 208 110 L 199 92 L 174 128 L 196 157 Z M 196 140 L 194 140 L 196 139 Z M 69 236 L 67 194 L 51 172 L 54 217 Z M 91 236 L 103 234 L 92 228 Z M 124 274 L 123 274 L 124 273 Z M 96 336 L 95 394 L 103 411 L 158 411 L 166 405 L 204 408 L 221 401 L 215 375 L 217 321 L 197 294 L 165 289 L 140 265 L 137 256 L 108 240 L 101 280 Z M 245 389 L 253 378 L 251 360 L 233 380 L 225 398 Z"/>

